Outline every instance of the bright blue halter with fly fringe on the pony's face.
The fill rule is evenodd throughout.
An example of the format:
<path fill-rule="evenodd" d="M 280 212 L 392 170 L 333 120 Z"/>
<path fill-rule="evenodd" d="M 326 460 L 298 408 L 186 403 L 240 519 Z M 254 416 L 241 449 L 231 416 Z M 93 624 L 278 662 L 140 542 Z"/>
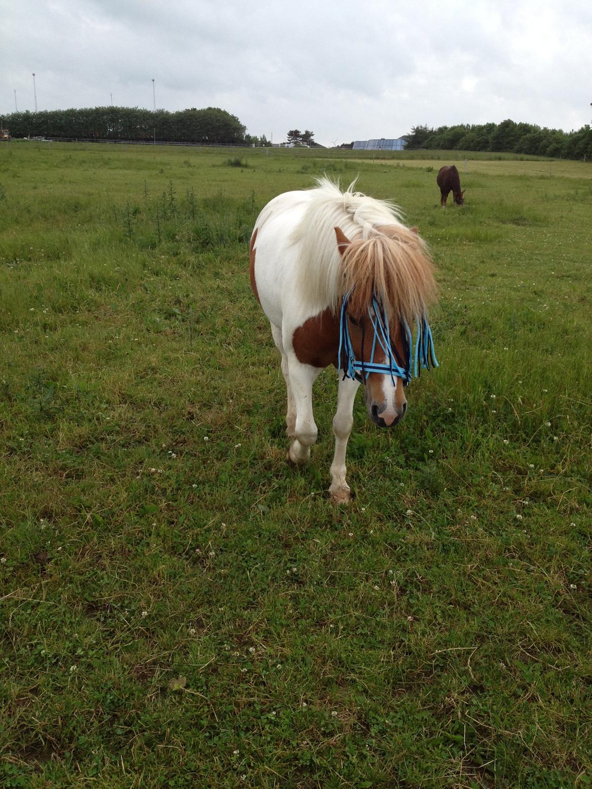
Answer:
<path fill-rule="evenodd" d="M 364 361 L 364 321 L 362 320 L 362 361 L 358 361 L 355 357 L 354 347 L 351 344 L 350 327 L 347 323 L 347 301 L 350 295 L 351 290 L 343 297 L 339 320 L 337 368 L 343 368 L 343 380 L 355 378 L 360 383 L 365 383 L 371 372 L 380 372 L 382 375 L 388 373 L 393 384 L 395 383 L 395 377 L 402 378 L 403 385 L 407 386 L 411 380 L 411 347 L 413 346 L 413 335 L 407 320 L 403 317 L 399 318 L 401 337 L 403 339 L 403 359 L 401 359 L 396 348 L 393 348 L 391 345 L 391 333 L 388 329 L 388 318 L 384 305 L 378 301 L 376 294 L 373 294 L 372 303 L 368 307 L 368 316 L 374 330 L 372 353 L 370 354 L 370 360 Z M 414 376 L 417 378 L 421 375 L 422 368 L 429 370 L 432 367 L 437 367 L 438 362 L 433 348 L 432 331 L 429 328 L 425 312 L 421 320 L 416 317 L 415 324 L 417 326 L 417 337 L 415 338 L 414 348 Z M 388 363 L 374 361 L 377 341 L 384 351 Z"/>

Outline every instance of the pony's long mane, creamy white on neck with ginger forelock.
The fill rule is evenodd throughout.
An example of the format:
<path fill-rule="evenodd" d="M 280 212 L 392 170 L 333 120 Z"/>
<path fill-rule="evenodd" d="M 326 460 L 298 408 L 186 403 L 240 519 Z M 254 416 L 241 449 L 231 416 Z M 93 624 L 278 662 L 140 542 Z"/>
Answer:
<path fill-rule="evenodd" d="M 354 289 L 348 309 L 362 316 L 376 293 L 386 308 L 410 325 L 435 294 L 433 267 L 425 242 L 401 222 L 400 209 L 387 200 L 345 191 L 317 178 L 311 199 L 291 240 L 300 245 L 300 287 L 319 311 L 338 312 Z M 351 242 L 339 253 L 335 228 Z"/>

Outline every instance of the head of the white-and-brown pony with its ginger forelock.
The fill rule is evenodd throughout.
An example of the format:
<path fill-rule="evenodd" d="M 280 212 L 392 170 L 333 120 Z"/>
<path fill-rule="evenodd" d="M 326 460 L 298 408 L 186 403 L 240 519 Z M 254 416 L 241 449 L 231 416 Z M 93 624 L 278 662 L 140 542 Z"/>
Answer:
<path fill-rule="evenodd" d="M 423 316 L 436 287 L 429 254 L 416 227 L 377 226 L 369 237 L 354 241 L 335 227 L 335 236 L 343 279 L 342 335 L 349 343 L 340 363 L 345 370 L 348 356 L 358 360 L 348 374 L 363 383 L 370 418 L 381 428 L 393 427 L 407 411 L 410 327 L 416 323 L 421 333 L 425 324 L 429 333 Z"/>

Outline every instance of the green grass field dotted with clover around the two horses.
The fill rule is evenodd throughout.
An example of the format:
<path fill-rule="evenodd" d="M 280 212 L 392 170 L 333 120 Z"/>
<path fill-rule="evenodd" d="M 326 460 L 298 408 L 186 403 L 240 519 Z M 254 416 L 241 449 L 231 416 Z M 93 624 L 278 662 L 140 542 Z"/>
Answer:
<path fill-rule="evenodd" d="M 592 787 L 592 169 L 466 157 L 0 146 L 2 787 Z M 323 172 L 440 285 L 350 507 L 247 271 Z"/>

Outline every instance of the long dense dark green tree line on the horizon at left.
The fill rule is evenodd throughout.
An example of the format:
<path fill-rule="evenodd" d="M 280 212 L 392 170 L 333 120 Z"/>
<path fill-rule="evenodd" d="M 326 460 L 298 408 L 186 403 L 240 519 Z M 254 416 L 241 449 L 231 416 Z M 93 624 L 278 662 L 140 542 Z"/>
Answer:
<path fill-rule="evenodd" d="M 137 140 L 198 144 L 268 144 L 219 107 L 169 112 L 138 107 L 87 107 L 81 110 L 13 112 L 2 117 L 13 137 L 71 137 L 84 140 Z"/>

